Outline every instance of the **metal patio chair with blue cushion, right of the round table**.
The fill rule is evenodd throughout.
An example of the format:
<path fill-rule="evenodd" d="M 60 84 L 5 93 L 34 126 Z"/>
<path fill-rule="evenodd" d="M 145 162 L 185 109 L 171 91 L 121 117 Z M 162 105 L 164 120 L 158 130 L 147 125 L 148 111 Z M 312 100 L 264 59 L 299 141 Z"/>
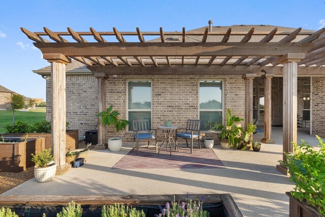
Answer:
<path fill-rule="evenodd" d="M 177 138 L 180 137 L 180 138 L 183 138 L 186 140 L 187 147 L 188 147 L 187 139 L 191 140 L 191 153 L 193 153 L 193 139 L 199 140 L 199 147 L 201 149 L 200 125 L 201 125 L 201 120 L 188 119 L 187 123 L 186 123 L 186 128 L 177 129 L 176 130 L 176 147 L 177 147 Z M 185 133 L 178 133 L 178 130 L 185 130 Z"/>

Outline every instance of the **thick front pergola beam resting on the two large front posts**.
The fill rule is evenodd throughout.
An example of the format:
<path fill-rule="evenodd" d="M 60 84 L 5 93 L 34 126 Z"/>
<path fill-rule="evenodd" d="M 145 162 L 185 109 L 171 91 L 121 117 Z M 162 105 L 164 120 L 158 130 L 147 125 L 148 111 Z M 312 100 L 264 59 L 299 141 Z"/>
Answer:
<path fill-rule="evenodd" d="M 306 53 L 307 42 L 34 43 L 43 53 L 66 56 L 281 56 Z M 317 50 L 318 52 L 318 50 Z"/>

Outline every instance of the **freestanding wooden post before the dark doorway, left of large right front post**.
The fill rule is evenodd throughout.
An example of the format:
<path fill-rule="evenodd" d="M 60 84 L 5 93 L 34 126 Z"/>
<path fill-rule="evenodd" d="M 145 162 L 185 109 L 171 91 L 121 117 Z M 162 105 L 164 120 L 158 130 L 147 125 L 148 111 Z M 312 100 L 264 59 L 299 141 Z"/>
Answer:
<path fill-rule="evenodd" d="M 272 139 L 272 77 L 274 74 L 262 75 L 264 78 L 264 143 L 274 143 Z"/>

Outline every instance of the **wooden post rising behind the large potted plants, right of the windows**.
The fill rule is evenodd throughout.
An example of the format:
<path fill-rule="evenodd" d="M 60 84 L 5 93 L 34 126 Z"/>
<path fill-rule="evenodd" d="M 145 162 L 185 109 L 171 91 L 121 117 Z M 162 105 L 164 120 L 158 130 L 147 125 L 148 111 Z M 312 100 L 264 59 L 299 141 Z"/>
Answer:
<path fill-rule="evenodd" d="M 253 79 L 256 73 L 245 74 L 242 78 L 245 80 L 245 130 L 249 122 L 253 122 Z M 250 141 L 253 139 L 253 134 L 250 135 Z"/>

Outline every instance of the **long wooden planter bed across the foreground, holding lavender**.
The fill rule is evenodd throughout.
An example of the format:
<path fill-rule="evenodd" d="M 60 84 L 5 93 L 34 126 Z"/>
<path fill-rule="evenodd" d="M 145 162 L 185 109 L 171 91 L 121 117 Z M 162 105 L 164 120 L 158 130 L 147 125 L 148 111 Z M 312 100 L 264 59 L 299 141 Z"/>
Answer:
<path fill-rule="evenodd" d="M 102 206 L 107 204 L 123 203 L 143 209 L 147 217 L 159 213 L 158 205 L 165 207 L 171 202 L 174 195 L 88 195 L 88 196 L 0 196 L 0 207 L 8 207 L 19 216 L 56 216 L 69 202 L 81 204 L 83 216 L 101 216 Z M 202 195 L 190 195 L 190 199 L 201 200 Z M 186 195 L 175 195 L 176 201 L 185 201 Z M 210 217 L 241 217 L 230 194 L 205 195 L 203 209 L 210 212 Z"/>

